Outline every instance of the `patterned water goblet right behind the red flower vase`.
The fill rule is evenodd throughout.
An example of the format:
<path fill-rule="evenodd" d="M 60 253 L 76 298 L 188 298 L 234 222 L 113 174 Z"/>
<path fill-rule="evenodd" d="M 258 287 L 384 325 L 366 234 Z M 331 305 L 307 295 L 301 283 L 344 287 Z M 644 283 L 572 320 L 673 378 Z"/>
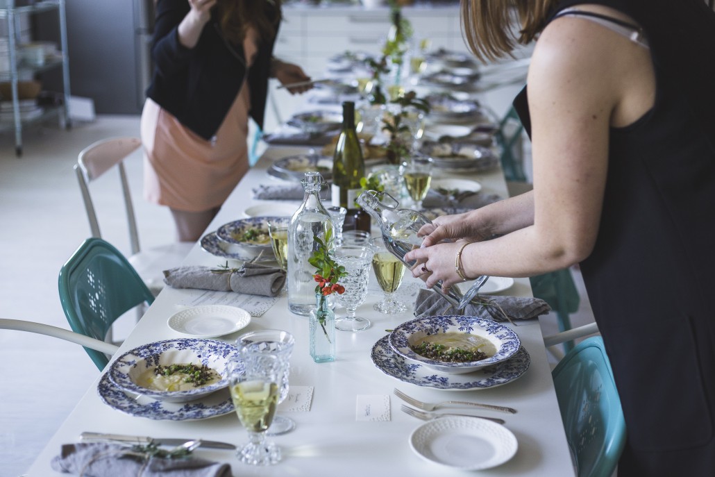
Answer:
<path fill-rule="evenodd" d="M 362 331 L 370 328 L 370 320 L 355 316 L 355 310 L 368 297 L 368 280 L 373 249 L 369 245 L 341 245 L 330 250 L 330 257 L 337 265 L 345 267 L 347 275 L 339 281 L 345 287 L 342 295 L 336 295 L 338 305 L 347 310 L 343 318 L 335 318 L 335 329 L 342 331 Z"/>

